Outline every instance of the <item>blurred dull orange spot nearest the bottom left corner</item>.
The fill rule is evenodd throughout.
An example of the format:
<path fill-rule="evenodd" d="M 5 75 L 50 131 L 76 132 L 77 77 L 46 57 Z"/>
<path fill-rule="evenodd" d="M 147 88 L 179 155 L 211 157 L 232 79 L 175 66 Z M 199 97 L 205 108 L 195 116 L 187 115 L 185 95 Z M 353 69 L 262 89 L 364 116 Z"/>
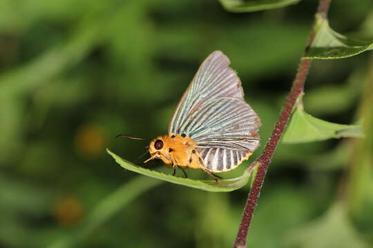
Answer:
<path fill-rule="evenodd" d="M 62 198 L 55 205 L 55 217 L 61 225 L 70 226 L 77 224 L 82 220 L 82 216 L 83 207 L 75 198 Z"/>

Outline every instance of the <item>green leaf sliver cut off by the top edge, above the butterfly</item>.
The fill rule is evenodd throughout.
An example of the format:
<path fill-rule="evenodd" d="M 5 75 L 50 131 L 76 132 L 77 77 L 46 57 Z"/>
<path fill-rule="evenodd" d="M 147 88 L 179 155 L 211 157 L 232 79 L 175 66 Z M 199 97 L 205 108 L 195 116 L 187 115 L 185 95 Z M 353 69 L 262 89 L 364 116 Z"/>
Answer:
<path fill-rule="evenodd" d="M 231 12 L 253 12 L 281 8 L 300 0 L 219 0 L 225 10 Z"/>

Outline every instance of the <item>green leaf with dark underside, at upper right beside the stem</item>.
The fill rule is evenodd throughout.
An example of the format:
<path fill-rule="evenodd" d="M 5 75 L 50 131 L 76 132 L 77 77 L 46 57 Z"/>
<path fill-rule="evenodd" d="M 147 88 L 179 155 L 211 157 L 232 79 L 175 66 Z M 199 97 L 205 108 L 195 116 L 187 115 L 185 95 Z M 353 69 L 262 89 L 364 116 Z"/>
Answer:
<path fill-rule="evenodd" d="M 373 41 L 357 41 L 338 34 L 319 14 L 314 30 L 315 38 L 303 56 L 305 59 L 342 59 L 373 49 Z"/>

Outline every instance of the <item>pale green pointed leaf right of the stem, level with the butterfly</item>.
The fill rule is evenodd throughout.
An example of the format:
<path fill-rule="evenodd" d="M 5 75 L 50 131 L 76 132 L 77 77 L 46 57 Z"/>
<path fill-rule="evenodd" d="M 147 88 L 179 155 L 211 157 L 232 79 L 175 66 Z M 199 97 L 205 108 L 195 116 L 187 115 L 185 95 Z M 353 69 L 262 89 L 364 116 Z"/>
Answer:
<path fill-rule="evenodd" d="M 363 137 L 361 125 L 342 125 L 329 123 L 307 114 L 300 103 L 291 116 L 283 136 L 284 143 L 305 143 L 323 141 L 329 138 Z"/>

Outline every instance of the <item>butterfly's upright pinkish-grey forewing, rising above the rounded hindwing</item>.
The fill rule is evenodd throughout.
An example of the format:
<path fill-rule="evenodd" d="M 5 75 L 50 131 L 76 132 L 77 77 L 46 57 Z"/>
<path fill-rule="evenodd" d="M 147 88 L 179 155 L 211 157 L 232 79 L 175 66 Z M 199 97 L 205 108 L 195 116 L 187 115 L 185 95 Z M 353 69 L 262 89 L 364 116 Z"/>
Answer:
<path fill-rule="evenodd" d="M 205 59 L 182 96 L 169 123 L 169 134 L 182 134 L 181 127 L 189 121 L 202 103 L 222 97 L 243 99 L 240 79 L 229 68 L 231 62 L 220 51 Z"/>

